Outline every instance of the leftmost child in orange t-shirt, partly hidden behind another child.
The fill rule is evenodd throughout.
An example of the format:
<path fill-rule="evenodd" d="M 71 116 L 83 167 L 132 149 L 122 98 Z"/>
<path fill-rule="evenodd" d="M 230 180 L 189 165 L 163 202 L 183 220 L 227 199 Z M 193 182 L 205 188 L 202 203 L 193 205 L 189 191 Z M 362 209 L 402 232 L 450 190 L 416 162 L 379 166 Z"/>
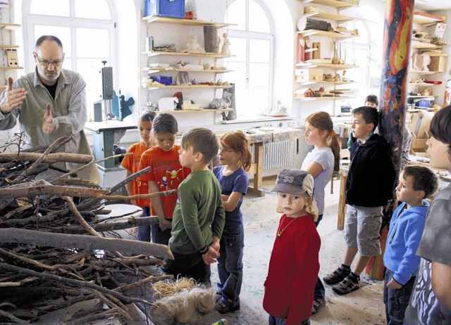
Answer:
<path fill-rule="evenodd" d="M 138 129 L 140 130 L 141 141 L 137 142 L 136 144 L 132 144 L 132 146 L 128 148 L 127 153 L 133 153 L 133 155 L 126 155 L 121 163 L 122 167 L 127 170 L 125 177 L 129 177 L 131 174 L 139 172 L 142 153 L 144 153 L 144 151 L 147 151 L 147 149 L 156 146 L 156 141 L 152 134 L 152 122 L 154 121 L 155 115 L 155 112 L 146 112 L 140 117 Z M 149 193 L 147 182 L 140 181 L 139 179 L 133 179 L 132 181 L 129 181 L 127 184 L 125 184 L 125 190 L 127 191 L 129 196 Z M 131 203 L 142 208 L 142 217 L 148 217 L 150 215 L 150 200 L 148 198 L 137 198 L 136 200 L 132 200 Z M 149 243 L 150 226 L 139 227 L 138 240 L 147 241 L 147 243 Z"/>

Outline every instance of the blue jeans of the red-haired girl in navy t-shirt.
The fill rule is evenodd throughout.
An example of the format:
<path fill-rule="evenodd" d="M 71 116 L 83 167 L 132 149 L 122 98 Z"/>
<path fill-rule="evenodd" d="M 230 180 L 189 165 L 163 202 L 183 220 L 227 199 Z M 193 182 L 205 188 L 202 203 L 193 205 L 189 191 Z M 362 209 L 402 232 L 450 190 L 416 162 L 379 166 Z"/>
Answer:
<path fill-rule="evenodd" d="M 218 291 L 221 291 L 223 298 L 231 300 L 234 306 L 240 305 L 244 247 L 242 225 L 236 230 L 223 230 L 218 257 Z"/>

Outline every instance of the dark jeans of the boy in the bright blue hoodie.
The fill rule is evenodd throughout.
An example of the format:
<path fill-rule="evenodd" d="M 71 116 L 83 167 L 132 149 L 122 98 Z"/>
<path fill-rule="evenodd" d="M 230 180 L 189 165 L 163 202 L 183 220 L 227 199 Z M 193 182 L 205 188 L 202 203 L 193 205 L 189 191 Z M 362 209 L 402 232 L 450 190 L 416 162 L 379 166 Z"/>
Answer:
<path fill-rule="evenodd" d="M 388 325 L 404 323 L 404 313 L 409 305 L 410 295 L 414 288 L 416 276 L 412 276 L 400 289 L 390 289 L 387 283 L 393 278 L 393 272 L 385 269 L 383 283 L 383 302 L 385 303 L 385 317 Z"/>

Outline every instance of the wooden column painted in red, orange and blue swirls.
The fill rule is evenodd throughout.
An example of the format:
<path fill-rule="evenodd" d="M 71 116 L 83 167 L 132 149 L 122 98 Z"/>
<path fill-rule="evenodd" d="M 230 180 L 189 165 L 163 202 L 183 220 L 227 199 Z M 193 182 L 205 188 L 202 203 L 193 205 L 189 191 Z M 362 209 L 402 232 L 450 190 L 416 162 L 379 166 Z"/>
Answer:
<path fill-rule="evenodd" d="M 393 149 L 393 165 L 399 174 L 402 163 L 402 130 L 405 127 L 407 85 L 414 0 L 386 0 L 383 33 L 383 63 L 381 92 L 379 94 L 379 134 Z M 396 178 L 397 179 L 397 178 Z M 395 190 L 393 189 L 393 196 Z M 393 205 L 384 212 L 384 219 L 391 217 Z M 388 228 L 381 229 L 382 254 L 371 257 L 365 273 L 373 279 L 383 280 L 383 253 Z"/>

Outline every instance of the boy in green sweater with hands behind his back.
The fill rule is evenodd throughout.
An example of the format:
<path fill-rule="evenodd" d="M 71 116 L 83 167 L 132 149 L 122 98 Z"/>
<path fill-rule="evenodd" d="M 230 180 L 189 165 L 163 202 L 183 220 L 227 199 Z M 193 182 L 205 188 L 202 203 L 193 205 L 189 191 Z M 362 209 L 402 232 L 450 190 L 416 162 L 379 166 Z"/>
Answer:
<path fill-rule="evenodd" d="M 226 220 L 221 185 L 208 167 L 218 154 L 219 141 L 211 130 L 197 128 L 183 134 L 181 145 L 180 164 L 192 172 L 178 186 L 169 240 L 174 260 L 166 258 L 162 269 L 211 286 L 210 265 L 219 256 Z"/>

